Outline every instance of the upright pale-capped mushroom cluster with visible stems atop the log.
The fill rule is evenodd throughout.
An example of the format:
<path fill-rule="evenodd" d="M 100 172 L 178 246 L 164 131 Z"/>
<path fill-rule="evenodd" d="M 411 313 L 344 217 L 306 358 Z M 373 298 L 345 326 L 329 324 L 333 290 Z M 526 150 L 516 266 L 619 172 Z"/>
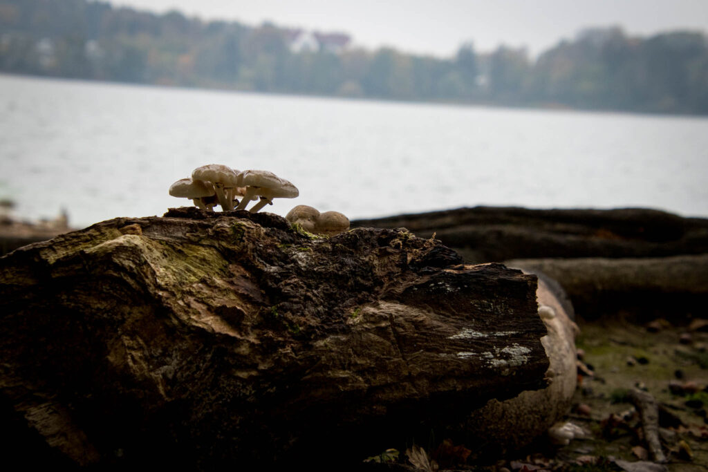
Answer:
<path fill-rule="evenodd" d="M 177 180 L 171 185 L 169 193 L 173 197 L 190 198 L 201 209 L 212 210 L 216 205 L 221 205 L 224 212 L 246 209 L 249 202 L 260 197 L 261 201 L 251 207 L 253 213 L 265 205 L 273 205 L 273 198 L 295 198 L 299 195 L 295 185 L 272 172 L 239 172 L 222 164 L 195 168 L 191 178 Z"/>

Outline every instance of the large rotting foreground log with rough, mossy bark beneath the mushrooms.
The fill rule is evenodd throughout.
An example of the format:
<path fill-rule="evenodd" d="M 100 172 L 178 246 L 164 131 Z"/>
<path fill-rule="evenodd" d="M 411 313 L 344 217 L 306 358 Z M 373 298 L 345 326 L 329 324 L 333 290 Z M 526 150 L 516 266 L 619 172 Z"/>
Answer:
<path fill-rule="evenodd" d="M 310 238 L 198 209 L 104 221 L 0 258 L 13 454 L 360 460 L 544 388 L 536 287 L 404 230 Z"/>

